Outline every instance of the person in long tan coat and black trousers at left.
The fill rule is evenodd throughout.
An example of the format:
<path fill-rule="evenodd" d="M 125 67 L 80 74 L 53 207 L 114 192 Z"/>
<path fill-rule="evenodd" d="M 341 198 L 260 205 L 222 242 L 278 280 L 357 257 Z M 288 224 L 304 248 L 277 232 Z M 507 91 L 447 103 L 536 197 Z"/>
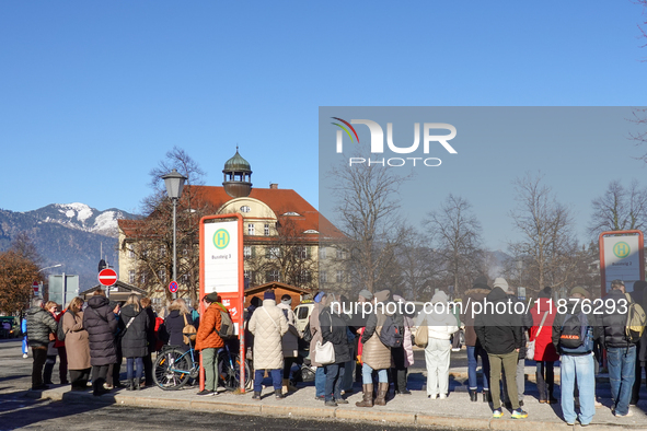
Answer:
<path fill-rule="evenodd" d="M 70 302 L 63 314 L 62 330 L 66 334 L 68 370 L 72 391 L 83 391 L 90 378 L 90 342 L 88 331 L 83 328 L 83 299 L 77 296 Z"/>

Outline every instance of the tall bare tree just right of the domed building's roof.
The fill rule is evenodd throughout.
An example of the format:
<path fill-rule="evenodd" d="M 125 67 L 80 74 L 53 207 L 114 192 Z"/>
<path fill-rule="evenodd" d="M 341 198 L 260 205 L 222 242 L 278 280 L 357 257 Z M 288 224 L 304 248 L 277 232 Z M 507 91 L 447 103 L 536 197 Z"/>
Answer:
<path fill-rule="evenodd" d="M 381 165 L 344 165 L 332 172 L 336 178 L 340 230 L 348 242 L 351 283 L 373 291 L 386 286 L 392 275 L 394 249 L 400 241 L 397 191 L 408 177 Z M 391 271 L 391 272 L 390 272 Z"/>

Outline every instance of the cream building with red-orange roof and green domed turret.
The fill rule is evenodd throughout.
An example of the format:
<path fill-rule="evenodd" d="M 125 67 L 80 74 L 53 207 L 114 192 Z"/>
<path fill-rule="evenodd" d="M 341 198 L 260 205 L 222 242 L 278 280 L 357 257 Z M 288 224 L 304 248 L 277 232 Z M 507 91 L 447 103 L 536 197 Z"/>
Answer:
<path fill-rule="evenodd" d="M 243 217 L 246 288 L 280 282 L 312 291 L 323 288 L 322 284 L 334 283 L 339 287 L 347 282 L 345 271 L 334 269 L 343 267 L 335 265 L 335 261 L 347 257 L 346 251 L 339 246 L 345 237 L 312 205 L 296 190 L 279 188 L 278 184 L 270 184 L 268 188 L 252 187 L 252 166 L 239 153 L 238 148 L 235 154 L 224 163 L 222 173 L 222 186 L 186 186 L 178 203 L 178 214 L 188 189 L 193 199 L 199 198 L 200 202 L 190 203 L 188 211 L 201 208 L 207 213 L 199 217 L 235 212 Z M 153 263 L 146 261 L 153 260 L 151 256 L 155 254 L 160 255 L 159 260 L 166 257 L 167 261 L 166 253 L 172 253 L 164 249 L 167 241 L 164 242 L 162 235 L 158 240 L 158 235 L 150 231 L 143 233 L 146 231 L 142 226 L 158 215 L 153 213 L 146 220 L 118 222 L 119 280 L 146 289 L 153 302 L 155 298 L 161 301 L 169 296 L 166 286 L 172 277 L 167 265 L 155 267 L 151 273 L 148 268 Z M 159 217 L 165 219 L 164 215 Z M 167 223 L 171 223 L 171 219 L 167 219 Z M 196 253 L 199 255 L 197 226 L 194 233 L 190 247 L 178 245 L 178 261 L 184 258 L 185 264 L 188 264 Z M 326 265 L 322 268 L 325 266 L 326 269 L 320 270 L 320 264 L 324 260 Z M 180 267 L 178 264 L 176 281 L 180 284 L 180 296 L 195 301 L 199 271 L 195 265 L 184 265 L 187 269 L 183 273 Z"/>

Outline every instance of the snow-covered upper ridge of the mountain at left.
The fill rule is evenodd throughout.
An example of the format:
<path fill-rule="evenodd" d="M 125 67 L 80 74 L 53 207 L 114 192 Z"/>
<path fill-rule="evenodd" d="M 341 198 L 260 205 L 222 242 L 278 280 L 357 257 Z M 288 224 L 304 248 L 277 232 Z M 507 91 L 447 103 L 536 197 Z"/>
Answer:
<path fill-rule="evenodd" d="M 85 203 L 51 203 L 24 214 L 35 215 L 39 223 L 58 223 L 63 226 L 105 236 L 117 236 L 117 220 L 132 219 L 135 215 L 116 208 L 104 211 Z"/>

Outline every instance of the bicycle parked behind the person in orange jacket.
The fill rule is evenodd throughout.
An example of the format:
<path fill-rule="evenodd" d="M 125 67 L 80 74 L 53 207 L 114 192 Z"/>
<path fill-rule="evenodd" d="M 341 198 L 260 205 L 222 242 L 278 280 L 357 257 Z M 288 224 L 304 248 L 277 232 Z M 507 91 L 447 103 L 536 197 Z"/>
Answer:
<path fill-rule="evenodd" d="M 240 387 L 241 361 L 229 347 L 218 351 L 218 382 L 227 391 L 233 392 Z M 177 391 L 192 378 L 199 376 L 199 360 L 193 346 L 184 351 L 178 346 L 164 346 L 155 360 L 153 381 L 164 391 Z M 252 382 L 250 362 L 245 360 L 245 387 Z"/>

